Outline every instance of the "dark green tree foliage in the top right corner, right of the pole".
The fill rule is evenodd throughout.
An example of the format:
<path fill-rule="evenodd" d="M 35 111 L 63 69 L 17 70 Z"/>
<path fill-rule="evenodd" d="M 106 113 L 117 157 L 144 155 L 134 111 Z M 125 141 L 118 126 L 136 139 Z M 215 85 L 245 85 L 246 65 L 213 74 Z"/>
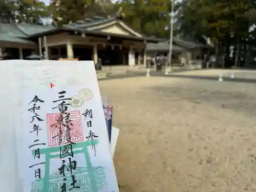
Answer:
<path fill-rule="evenodd" d="M 190 0 L 183 2 L 180 10 L 180 32 L 195 38 L 210 37 L 215 43 L 216 55 L 224 55 L 226 63 L 236 64 L 240 60 L 241 45 L 246 43 L 243 39 L 249 37 L 248 29 L 255 22 L 255 10 L 248 0 Z M 232 61 L 231 46 L 235 53 Z"/>

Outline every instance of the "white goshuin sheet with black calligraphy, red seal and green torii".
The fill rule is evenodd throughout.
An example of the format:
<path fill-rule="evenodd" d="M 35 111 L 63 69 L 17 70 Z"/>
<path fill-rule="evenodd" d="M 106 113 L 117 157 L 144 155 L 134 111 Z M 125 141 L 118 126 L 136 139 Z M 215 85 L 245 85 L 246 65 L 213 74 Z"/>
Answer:
<path fill-rule="evenodd" d="M 10 83 L 13 158 L 22 184 L 12 191 L 20 186 L 38 192 L 119 191 L 94 63 L 15 60 L 7 65 L 16 77 Z M 53 74 L 56 86 L 50 89 Z"/>

